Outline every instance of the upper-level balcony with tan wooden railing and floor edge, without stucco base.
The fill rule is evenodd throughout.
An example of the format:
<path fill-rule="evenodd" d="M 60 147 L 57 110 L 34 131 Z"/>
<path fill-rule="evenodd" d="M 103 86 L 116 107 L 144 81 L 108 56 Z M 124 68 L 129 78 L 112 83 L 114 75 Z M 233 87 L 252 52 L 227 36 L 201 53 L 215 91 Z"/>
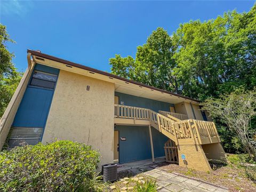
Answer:
<path fill-rule="evenodd" d="M 188 119 L 187 115 L 115 105 L 115 124 L 153 126 L 178 144 L 207 144 L 220 142 L 213 122 Z"/>

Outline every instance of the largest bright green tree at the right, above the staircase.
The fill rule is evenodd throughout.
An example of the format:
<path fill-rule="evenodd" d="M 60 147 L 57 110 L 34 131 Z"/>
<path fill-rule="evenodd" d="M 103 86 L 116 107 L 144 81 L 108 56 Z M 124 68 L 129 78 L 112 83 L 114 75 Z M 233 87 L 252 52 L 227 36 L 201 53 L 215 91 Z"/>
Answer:
<path fill-rule="evenodd" d="M 256 5 L 215 20 L 190 21 L 173 34 L 174 75 L 182 92 L 205 100 L 256 86 Z"/>

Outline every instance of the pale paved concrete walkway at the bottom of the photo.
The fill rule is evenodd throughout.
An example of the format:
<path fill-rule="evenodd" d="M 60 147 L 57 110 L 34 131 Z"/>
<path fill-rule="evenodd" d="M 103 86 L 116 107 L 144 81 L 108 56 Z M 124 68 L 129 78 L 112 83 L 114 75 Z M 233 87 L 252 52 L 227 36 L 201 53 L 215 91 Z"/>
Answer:
<path fill-rule="evenodd" d="M 188 179 L 187 177 L 183 177 L 178 174 L 168 173 L 161 169 L 153 169 L 143 174 L 148 175 L 149 177 L 155 178 L 158 191 L 161 192 L 226 192 L 228 191 L 225 188 L 220 186 L 214 186 L 210 183 L 206 183 L 203 181 L 198 181 L 194 179 Z"/>

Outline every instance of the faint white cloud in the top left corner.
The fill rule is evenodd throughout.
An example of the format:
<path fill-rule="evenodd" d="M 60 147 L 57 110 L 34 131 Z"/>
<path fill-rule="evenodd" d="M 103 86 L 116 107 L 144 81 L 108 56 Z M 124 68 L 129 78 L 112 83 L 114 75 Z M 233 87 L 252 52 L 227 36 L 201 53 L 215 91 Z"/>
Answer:
<path fill-rule="evenodd" d="M 25 15 L 32 7 L 32 1 L 0 1 L 1 14 L 3 15 Z"/>

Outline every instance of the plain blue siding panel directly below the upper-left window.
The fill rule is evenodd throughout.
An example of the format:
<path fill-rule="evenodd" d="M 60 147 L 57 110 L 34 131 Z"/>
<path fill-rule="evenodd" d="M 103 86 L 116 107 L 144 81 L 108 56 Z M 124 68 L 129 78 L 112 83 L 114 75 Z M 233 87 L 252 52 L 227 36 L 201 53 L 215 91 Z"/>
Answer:
<path fill-rule="evenodd" d="M 27 87 L 12 126 L 44 127 L 52 96 L 52 90 Z"/>

